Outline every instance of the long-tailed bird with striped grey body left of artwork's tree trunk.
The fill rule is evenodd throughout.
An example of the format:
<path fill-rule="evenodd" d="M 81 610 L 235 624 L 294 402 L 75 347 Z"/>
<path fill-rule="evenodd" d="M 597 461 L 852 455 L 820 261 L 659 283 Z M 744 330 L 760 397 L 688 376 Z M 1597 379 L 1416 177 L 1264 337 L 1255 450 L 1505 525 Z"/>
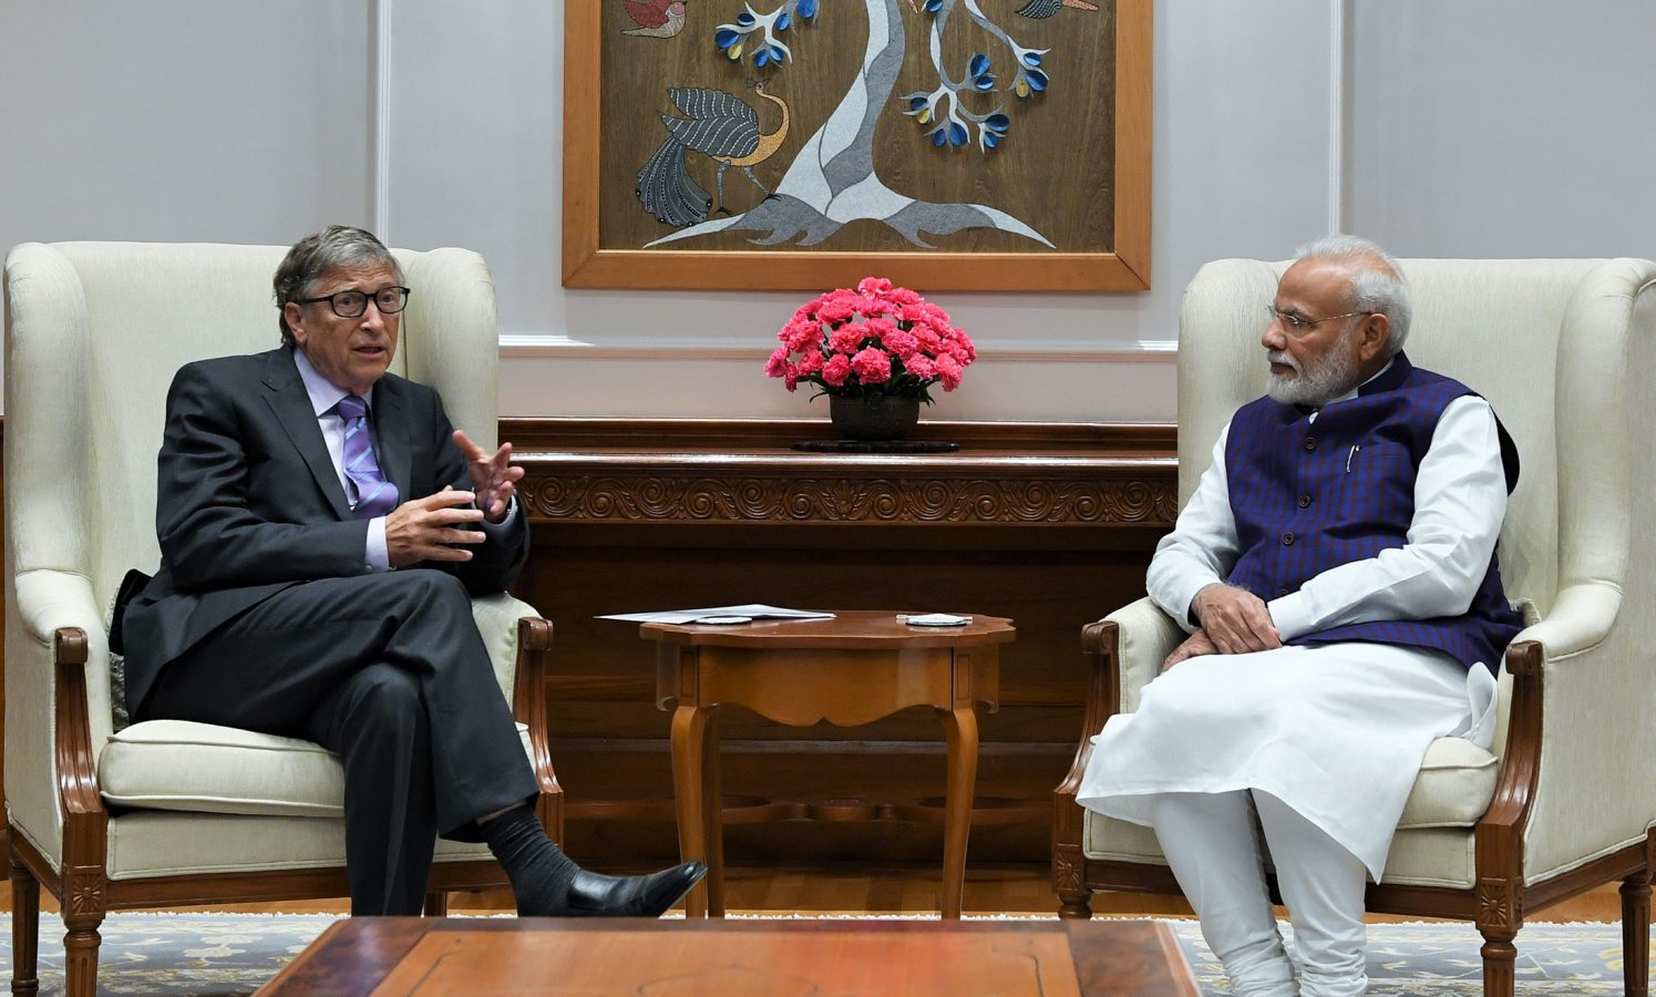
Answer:
<path fill-rule="evenodd" d="M 724 207 L 724 174 L 732 166 L 740 167 L 760 194 L 770 197 L 770 187 L 753 176 L 753 167 L 775 154 L 788 137 L 788 104 L 777 94 L 765 93 L 763 79 L 749 83 L 753 93 L 782 108 L 777 131 L 762 132 L 758 111 L 735 94 L 694 86 L 667 89 L 686 118 L 661 114 L 667 137 L 638 171 L 638 187 L 633 190 L 657 222 L 682 229 L 705 222 L 712 210 L 714 200 L 684 167 L 686 152 L 700 152 L 719 164 L 719 210 L 729 212 Z"/>

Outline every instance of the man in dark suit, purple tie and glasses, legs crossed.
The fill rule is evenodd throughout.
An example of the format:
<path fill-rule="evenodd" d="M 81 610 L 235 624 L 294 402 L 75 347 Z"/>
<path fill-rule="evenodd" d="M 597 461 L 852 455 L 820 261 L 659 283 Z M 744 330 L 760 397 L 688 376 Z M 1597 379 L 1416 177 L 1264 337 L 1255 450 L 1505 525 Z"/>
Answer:
<path fill-rule="evenodd" d="M 588 873 L 546 838 L 470 595 L 528 555 L 523 470 L 388 374 L 411 288 L 330 227 L 275 277 L 283 344 L 185 364 L 167 396 L 162 563 L 124 614 L 128 701 L 306 737 L 344 763 L 353 914 L 419 914 L 437 835 L 484 840 L 518 914 L 659 916 L 705 873 Z"/>

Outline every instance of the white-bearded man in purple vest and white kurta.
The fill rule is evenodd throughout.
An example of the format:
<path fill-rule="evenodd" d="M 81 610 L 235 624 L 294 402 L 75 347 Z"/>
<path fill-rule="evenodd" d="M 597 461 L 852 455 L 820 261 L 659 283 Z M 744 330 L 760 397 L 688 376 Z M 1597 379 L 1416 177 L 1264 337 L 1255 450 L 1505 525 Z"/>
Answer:
<path fill-rule="evenodd" d="M 1361 994 L 1365 881 L 1426 747 L 1494 734 L 1519 462 L 1489 402 L 1403 353 L 1408 285 L 1378 245 L 1305 247 L 1267 308 L 1268 394 L 1149 566 L 1191 636 L 1093 739 L 1078 800 L 1154 828 L 1237 995 Z"/>

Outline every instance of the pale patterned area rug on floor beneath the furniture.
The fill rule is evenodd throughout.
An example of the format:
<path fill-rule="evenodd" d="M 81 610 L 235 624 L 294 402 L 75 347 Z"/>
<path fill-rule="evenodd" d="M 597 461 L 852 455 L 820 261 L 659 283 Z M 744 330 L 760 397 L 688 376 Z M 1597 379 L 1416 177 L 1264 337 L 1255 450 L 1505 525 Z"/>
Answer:
<path fill-rule="evenodd" d="M 252 994 L 333 921 L 330 914 L 111 914 L 103 924 L 99 992 Z M 1229 997 L 1196 922 L 1171 924 L 1204 997 Z M 1292 942 L 1287 924 L 1283 934 Z M 1371 924 L 1370 997 L 1480 995 L 1479 944 L 1469 924 Z M 10 914 L 0 914 L 0 969 L 10 982 Z M 1520 997 L 1621 994 L 1621 927 L 1528 924 L 1519 932 L 1517 979 Z M 63 924 L 55 914 L 40 918 L 40 992 L 63 992 Z"/>

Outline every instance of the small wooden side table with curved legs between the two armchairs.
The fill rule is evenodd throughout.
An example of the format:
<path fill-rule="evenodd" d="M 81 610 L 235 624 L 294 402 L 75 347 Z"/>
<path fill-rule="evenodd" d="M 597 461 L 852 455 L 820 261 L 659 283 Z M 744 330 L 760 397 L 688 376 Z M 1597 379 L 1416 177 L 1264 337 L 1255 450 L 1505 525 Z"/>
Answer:
<path fill-rule="evenodd" d="M 907 626 L 896 611 L 840 611 L 835 619 L 763 619 L 739 626 L 646 623 L 656 641 L 656 706 L 672 709 L 672 790 L 682 861 L 707 863 L 705 893 L 686 916 L 722 918 L 724 828 L 719 707 L 808 727 L 873 724 L 911 706 L 937 710 L 949 744 L 944 792 L 942 916 L 960 916 L 965 843 L 977 785 L 974 704 L 999 706 L 1000 644 L 1010 619 L 974 616 L 952 628 Z M 674 707 L 674 704 L 677 704 Z"/>

